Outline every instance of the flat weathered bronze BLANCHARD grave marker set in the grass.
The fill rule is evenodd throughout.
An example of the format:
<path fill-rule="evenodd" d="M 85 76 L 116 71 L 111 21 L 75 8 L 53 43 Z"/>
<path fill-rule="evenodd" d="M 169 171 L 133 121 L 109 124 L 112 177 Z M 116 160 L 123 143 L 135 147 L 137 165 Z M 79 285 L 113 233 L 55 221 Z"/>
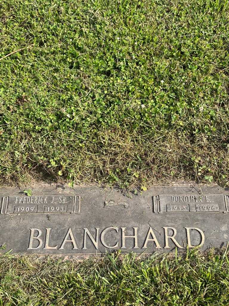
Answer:
<path fill-rule="evenodd" d="M 0 190 L 2 252 L 62 255 L 185 251 L 227 245 L 229 196 L 222 187 Z"/>

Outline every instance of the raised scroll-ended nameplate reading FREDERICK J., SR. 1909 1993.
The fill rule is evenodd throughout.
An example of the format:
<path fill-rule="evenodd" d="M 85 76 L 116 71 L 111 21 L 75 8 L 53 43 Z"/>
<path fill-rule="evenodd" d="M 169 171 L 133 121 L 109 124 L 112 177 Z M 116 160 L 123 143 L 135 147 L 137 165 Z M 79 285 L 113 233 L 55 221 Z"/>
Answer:
<path fill-rule="evenodd" d="M 80 213 L 80 196 L 8 196 L 2 198 L 1 214 Z"/>

